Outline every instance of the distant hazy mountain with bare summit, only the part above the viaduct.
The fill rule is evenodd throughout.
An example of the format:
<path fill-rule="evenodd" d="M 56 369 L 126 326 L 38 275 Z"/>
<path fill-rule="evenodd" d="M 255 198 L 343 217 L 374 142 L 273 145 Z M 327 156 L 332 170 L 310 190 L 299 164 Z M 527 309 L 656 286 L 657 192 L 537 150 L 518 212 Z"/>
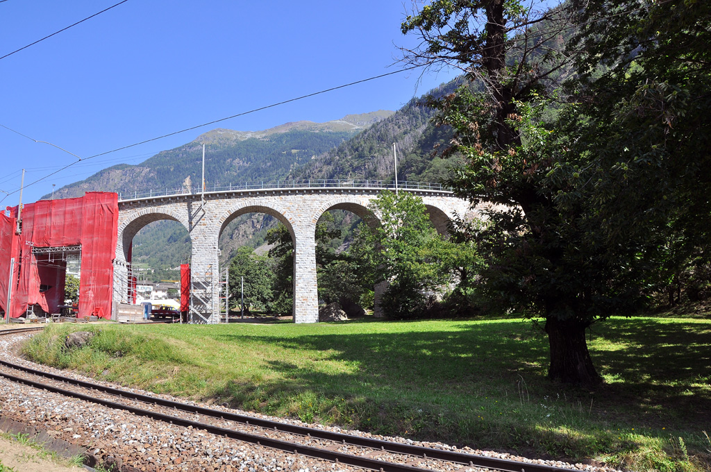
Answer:
<path fill-rule="evenodd" d="M 64 186 L 55 192 L 55 198 L 80 196 L 86 191 L 128 193 L 179 188 L 188 176 L 196 185 L 201 181 L 203 143 L 208 186 L 277 180 L 390 114 L 380 110 L 326 123 L 292 122 L 261 132 L 213 129 L 138 165 L 119 164 Z"/>

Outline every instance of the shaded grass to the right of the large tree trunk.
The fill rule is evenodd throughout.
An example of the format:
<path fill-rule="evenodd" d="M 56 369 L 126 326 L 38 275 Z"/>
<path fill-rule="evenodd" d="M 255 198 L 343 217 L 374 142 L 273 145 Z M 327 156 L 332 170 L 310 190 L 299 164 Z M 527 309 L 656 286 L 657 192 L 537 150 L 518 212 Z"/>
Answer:
<path fill-rule="evenodd" d="M 613 377 L 597 392 L 602 404 L 644 427 L 709 427 L 710 324 L 626 318 L 602 323 L 594 333 L 593 360 Z"/>

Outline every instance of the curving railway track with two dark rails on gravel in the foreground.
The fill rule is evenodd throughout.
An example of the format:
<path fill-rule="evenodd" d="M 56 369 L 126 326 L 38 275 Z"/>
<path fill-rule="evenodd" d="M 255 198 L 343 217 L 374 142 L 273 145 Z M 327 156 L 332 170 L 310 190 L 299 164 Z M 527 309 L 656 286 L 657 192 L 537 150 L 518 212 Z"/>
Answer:
<path fill-rule="evenodd" d="M 36 331 L 16 328 L 0 331 L 0 336 Z M 120 409 L 176 427 L 206 431 L 221 438 L 245 441 L 289 454 L 323 459 L 336 464 L 379 472 L 473 471 L 579 472 L 540 463 L 464 454 L 459 451 L 402 444 L 363 436 L 338 433 L 296 424 L 274 422 L 220 409 L 144 395 L 95 382 L 76 380 L 23 365 L 0 360 L 0 376 L 37 389 Z"/>

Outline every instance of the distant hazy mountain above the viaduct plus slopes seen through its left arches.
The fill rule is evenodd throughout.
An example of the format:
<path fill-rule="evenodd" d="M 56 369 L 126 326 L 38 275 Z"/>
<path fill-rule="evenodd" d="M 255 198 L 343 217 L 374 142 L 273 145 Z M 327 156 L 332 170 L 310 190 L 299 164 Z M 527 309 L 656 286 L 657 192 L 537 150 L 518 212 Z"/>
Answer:
<path fill-rule="evenodd" d="M 258 132 L 213 129 L 190 143 L 161 151 L 132 166 L 119 164 L 55 191 L 55 198 L 70 198 L 87 191 L 156 191 L 180 188 L 190 177 L 198 186 L 202 173 L 202 144 L 205 143 L 205 181 L 208 187 L 245 181 L 276 181 L 294 168 L 351 139 L 393 112 L 379 110 L 349 114 L 326 123 L 290 122 Z M 48 195 L 47 195 L 48 196 Z M 221 262 L 237 247 L 257 247 L 275 222 L 266 215 L 245 215 L 233 221 L 220 238 Z M 134 238 L 133 261 L 154 272 L 141 277 L 159 281 L 176 278 L 176 267 L 191 253 L 188 232 L 177 222 L 159 221 L 144 227 Z"/>

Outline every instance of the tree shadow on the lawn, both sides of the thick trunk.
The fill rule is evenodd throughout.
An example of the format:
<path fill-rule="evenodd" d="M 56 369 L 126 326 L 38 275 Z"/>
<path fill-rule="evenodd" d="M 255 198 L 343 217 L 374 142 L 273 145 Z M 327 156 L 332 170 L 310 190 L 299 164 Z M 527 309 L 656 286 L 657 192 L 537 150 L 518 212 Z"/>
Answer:
<path fill-rule="evenodd" d="M 264 385 L 269 395 L 310 392 L 343 402 L 374 402 L 379 409 L 409 404 L 437 414 L 483 407 L 487 416 L 497 412 L 497 400 L 510 407 L 560 395 L 581 410 L 589 405 L 584 408 L 589 417 L 606 427 L 700 431 L 711 423 L 709 325 L 635 318 L 601 323 L 592 336 L 592 356 L 612 381 L 592 392 L 545 378 L 547 339 L 530 322 L 450 323 L 442 331 L 432 322 L 423 329 L 413 326 L 399 333 L 334 329 L 289 336 L 232 332 L 215 338 L 320 353 L 311 363 L 267 362 L 286 379 Z M 326 361 L 345 363 L 351 370 L 319 368 Z"/>

